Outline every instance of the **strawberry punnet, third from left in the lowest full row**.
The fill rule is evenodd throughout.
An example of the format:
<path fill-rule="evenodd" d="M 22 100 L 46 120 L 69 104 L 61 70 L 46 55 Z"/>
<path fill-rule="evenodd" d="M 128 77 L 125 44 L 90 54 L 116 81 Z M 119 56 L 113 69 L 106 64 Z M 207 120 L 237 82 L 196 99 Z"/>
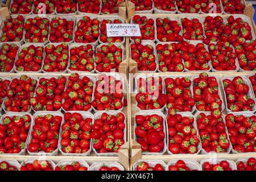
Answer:
<path fill-rule="evenodd" d="M 61 125 L 60 150 L 69 154 L 84 154 L 90 150 L 92 117 L 81 113 L 65 113 Z"/>

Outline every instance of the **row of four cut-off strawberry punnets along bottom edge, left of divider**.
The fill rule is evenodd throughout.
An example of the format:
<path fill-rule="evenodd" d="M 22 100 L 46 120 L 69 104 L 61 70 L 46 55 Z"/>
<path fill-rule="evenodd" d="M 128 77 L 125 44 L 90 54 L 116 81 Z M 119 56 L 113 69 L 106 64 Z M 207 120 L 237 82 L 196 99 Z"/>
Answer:
<path fill-rule="evenodd" d="M 124 171 L 118 162 L 95 162 L 89 166 L 85 160 L 0 160 L 1 171 Z"/>

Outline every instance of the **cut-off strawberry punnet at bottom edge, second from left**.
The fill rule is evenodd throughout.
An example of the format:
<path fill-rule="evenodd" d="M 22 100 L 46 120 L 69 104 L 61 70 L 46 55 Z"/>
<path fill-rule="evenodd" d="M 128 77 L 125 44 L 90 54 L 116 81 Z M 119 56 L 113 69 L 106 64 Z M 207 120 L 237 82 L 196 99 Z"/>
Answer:
<path fill-rule="evenodd" d="M 53 171 L 52 162 L 49 160 L 25 161 L 20 171 Z"/>

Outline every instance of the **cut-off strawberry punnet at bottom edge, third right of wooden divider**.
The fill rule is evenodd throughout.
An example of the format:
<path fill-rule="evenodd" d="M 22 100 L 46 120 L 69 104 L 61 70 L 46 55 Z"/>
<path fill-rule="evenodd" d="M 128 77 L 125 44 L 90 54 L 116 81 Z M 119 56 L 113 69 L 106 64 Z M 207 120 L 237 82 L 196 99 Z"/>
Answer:
<path fill-rule="evenodd" d="M 202 165 L 203 171 L 233 171 L 233 166 L 228 160 L 220 162 L 204 162 Z"/>

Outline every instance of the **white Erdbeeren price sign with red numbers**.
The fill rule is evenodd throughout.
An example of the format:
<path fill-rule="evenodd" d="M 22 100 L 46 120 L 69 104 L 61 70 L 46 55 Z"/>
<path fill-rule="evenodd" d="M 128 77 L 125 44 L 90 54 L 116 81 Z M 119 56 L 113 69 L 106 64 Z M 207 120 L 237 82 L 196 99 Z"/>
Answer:
<path fill-rule="evenodd" d="M 139 24 L 106 24 L 107 36 L 141 36 L 141 30 L 139 30 Z"/>

